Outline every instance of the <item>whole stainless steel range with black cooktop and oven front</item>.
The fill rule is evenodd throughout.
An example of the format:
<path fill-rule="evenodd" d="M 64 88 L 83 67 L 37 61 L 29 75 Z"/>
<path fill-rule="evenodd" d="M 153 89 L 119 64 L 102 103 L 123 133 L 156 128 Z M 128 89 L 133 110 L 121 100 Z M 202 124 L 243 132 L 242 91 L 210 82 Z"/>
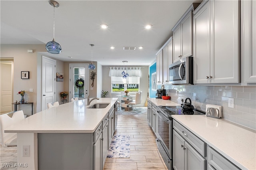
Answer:
<path fill-rule="evenodd" d="M 193 109 L 183 111 L 180 106 L 158 106 L 158 130 L 156 144 L 164 162 L 172 170 L 172 115 L 205 115 L 205 112 Z"/>

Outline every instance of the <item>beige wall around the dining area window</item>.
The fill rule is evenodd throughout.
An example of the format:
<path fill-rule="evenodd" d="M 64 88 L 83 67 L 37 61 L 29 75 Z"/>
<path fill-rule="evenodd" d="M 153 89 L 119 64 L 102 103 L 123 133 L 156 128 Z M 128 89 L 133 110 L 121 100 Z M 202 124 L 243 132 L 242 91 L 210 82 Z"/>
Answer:
<path fill-rule="evenodd" d="M 113 66 L 102 66 L 102 90 L 111 92 L 111 77 L 108 76 L 109 68 Z M 116 66 L 116 67 L 122 67 Z M 127 67 L 130 67 L 129 65 Z M 131 66 L 131 67 L 144 67 L 141 69 L 142 76 L 140 77 L 140 91 L 142 91 L 142 102 L 141 105 L 145 105 L 147 97 L 148 97 L 148 66 Z M 134 93 L 135 94 L 135 93 Z M 116 95 L 120 95 L 120 93 L 111 93 L 111 97 L 116 97 Z M 133 95 L 132 93 L 129 95 Z M 110 94 L 107 95 L 110 97 Z"/>

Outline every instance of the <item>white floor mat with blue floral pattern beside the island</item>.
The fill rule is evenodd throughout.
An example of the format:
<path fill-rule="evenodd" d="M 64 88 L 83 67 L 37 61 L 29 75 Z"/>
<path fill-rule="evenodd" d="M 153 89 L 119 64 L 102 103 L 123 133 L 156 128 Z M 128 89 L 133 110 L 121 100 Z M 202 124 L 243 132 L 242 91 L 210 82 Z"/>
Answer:
<path fill-rule="evenodd" d="M 107 158 L 130 158 L 130 136 L 114 135 Z"/>

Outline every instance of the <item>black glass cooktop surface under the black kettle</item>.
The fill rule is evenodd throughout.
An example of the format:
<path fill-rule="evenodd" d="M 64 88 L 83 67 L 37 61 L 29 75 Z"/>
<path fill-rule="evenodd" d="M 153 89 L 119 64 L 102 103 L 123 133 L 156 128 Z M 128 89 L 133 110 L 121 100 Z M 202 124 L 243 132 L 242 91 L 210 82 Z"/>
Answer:
<path fill-rule="evenodd" d="M 204 111 L 197 109 L 184 111 L 180 106 L 158 106 L 158 108 L 168 118 L 172 117 L 172 115 L 205 115 Z"/>

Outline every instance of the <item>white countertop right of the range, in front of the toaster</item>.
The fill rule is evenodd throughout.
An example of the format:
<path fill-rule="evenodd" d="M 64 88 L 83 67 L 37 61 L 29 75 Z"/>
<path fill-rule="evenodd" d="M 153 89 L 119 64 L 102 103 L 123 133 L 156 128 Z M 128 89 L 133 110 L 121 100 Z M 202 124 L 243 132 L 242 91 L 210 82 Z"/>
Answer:
<path fill-rule="evenodd" d="M 256 131 L 204 115 L 172 115 L 241 169 L 256 170 Z"/>

